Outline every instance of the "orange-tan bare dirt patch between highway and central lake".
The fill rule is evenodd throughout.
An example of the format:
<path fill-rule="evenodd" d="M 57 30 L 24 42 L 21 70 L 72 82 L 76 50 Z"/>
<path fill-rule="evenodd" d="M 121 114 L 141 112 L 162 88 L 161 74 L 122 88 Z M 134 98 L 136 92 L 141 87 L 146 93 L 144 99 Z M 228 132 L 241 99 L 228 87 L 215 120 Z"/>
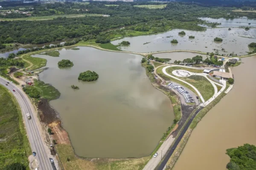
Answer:
<path fill-rule="evenodd" d="M 61 127 L 61 121 L 55 121 L 48 126 L 52 129 L 52 138 L 56 140 L 57 144 L 70 144 L 69 136 L 66 130 Z"/>

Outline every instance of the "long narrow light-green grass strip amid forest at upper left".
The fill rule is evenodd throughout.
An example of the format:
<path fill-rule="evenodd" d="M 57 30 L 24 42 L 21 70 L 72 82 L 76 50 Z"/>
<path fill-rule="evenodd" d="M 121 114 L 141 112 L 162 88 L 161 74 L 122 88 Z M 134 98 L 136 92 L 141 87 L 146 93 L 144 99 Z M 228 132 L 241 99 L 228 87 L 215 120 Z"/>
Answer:
<path fill-rule="evenodd" d="M 49 15 L 41 17 L 25 17 L 25 18 L 0 18 L 0 21 L 12 21 L 12 20 L 52 20 L 57 17 L 85 17 L 85 16 L 97 16 L 101 14 L 63 14 L 63 15 Z"/>

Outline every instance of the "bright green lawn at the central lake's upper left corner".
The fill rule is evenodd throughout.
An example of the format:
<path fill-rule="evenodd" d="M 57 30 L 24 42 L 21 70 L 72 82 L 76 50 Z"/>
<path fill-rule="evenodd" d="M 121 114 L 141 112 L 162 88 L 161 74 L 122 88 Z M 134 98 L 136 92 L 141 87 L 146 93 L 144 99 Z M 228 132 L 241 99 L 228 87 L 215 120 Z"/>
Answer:
<path fill-rule="evenodd" d="M 22 58 L 24 60 L 32 63 L 32 66 L 28 62 L 26 62 L 26 64 L 25 64 L 25 67 L 26 68 L 29 67 L 29 70 L 35 70 L 35 69 L 39 69 L 43 66 L 46 66 L 46 62 L 47 62 L 47 60 L 44 58 L 31 57 L 30 54 L 24 55 Z"/>

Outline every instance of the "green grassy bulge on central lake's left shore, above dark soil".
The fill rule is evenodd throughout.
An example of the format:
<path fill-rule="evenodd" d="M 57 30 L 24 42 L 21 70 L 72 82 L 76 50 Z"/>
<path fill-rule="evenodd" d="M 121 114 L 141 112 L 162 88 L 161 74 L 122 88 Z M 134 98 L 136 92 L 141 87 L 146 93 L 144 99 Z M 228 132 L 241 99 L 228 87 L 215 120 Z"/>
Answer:
<path fill-rule="evenodd" d="M 60 97 L 61 93 L 58 89 L 50 84 L 45 84 L 44 81 L 34 80 L 34 87 L 40 92 L 41 98 L 46 98 L 48 101 L 54 100 Z"/>

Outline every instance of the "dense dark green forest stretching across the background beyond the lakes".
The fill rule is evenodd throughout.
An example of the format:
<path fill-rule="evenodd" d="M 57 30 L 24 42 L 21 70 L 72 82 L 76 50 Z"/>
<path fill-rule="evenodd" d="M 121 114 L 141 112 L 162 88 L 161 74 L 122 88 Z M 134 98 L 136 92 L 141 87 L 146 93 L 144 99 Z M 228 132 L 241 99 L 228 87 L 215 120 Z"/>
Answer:
<path fill-rule="evenodd" d="M 119 3 L 119 2 L 116 2 Z M 56 14 L 108 14 L 110 17 L 58 17 L 53 20 L 15 20 L 0 23 L 1 43 L 40 44 L 67 38 L 89 36 L 98 42 L 108 42 L 109 37 L 99 37 L 104 31 L 125 27 L 127 30 L 152 33 L 164 32 L 172 28 L 203 31 L 198 26 L 204 21 L 197 17 L 228 17 L 231 8 L 202 7 L 184 3 L 168 3 L 163 9 L 134 7 L 137 3 L 123 3 L 119 6 L 105 6 L 103 2 L 53 3 L 26 8 L 33 15 Z M 24 9 L 24 10 L 26 10 Z"/>

